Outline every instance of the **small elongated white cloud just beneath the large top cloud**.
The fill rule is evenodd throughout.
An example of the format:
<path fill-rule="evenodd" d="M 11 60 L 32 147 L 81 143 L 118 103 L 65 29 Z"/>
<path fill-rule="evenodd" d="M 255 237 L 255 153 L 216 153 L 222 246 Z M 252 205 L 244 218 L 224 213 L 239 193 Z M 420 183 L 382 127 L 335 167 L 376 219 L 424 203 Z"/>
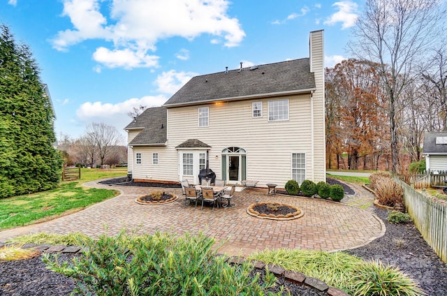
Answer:
<path fill-rule="evenodd" d="M 145 51 L 135 52 L 129 48 L 108 50 L 105 47 L 98 47 L 93 54 L 93 59 L 108 68 L 122 67 L 131 69 L 158 66 L 159 57 L 146 54 Z"/>

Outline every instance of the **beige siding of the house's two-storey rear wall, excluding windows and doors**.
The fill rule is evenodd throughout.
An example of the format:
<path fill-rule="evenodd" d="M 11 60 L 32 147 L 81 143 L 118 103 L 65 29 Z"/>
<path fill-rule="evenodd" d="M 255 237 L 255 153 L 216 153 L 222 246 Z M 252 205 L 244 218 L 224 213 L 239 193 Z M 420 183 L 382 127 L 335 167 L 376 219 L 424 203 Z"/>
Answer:
<path fill-rule="evenodd" d="M 268 101 L 275 99 L 288 99 L 289 120 L 268 121 Z M 254 101 L 263 102 L 263 117 L 252 117 Z M 310 102 L 307 94 L 170 108 L 168 150 L 188 139 L 205 142 L 212 147 L 210 168 L 217 178 L 225 179 L 221 176 L 221 151 L 240 147 L 247 151 L 247 179 L 284 186 L 291 179 L 291 153 L 307 154 L 307 175 L 312 175 Z M 198 127 L 201 106 L 210 108 L 210 125 L 204 128 Z"/>

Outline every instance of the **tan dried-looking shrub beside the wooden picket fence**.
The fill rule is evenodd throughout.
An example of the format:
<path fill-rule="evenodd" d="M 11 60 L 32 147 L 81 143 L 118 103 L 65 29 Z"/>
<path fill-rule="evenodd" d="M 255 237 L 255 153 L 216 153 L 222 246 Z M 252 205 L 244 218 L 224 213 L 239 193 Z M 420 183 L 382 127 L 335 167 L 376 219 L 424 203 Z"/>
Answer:
<path fill-rule="evenodd" d="M 404 207 L 404 191 L 394 179 L 381 178 L 374 186 L 377 202 L 387 207 Z"/>

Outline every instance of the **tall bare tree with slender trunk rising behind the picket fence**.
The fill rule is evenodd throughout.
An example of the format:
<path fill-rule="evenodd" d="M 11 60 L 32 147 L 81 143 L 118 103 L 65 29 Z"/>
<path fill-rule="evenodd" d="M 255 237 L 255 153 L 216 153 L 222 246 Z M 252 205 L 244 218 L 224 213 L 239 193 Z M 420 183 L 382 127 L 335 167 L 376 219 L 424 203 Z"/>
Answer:
<path fill-rule="evenodd" d="M 438 40 L 438 25 L 444 17 L 438 0 L 367 0 L 365 11 L 353 30 L 350 44 L 354 56 L 378 64 L 378 73 L 388 96 L 391 170 L 399 162 L 397 108 L 403 91 L 413 80 L 413 64 Z"/>

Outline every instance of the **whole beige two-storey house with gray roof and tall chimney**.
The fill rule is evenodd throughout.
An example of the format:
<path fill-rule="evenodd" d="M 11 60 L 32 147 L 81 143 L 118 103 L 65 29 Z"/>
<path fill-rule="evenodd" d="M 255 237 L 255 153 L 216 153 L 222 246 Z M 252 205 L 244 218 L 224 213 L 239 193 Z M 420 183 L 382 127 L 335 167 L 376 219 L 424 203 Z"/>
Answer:
<path fill-rule="evenodd" d="M 129 173 L 198 184 L 209 167 L 228 184 L 283 187 L 325 180 L 323 31 L 310 57 L 193 77 L 126 128 Z"/>

